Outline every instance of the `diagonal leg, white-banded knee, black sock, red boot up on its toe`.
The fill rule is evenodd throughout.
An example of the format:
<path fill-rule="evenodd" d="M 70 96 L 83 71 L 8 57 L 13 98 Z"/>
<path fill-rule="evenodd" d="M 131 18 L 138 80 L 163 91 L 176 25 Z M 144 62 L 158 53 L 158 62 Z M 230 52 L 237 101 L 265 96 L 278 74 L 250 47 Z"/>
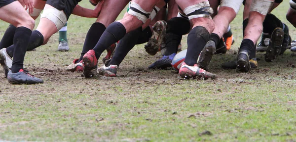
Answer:
<path fill-rule="evenodd" d="M 111 23 L 93 50 L 89 50 L 83 56 L 83 74 L 85 77 L 92 77 L 92 69 L 97 68 L 98 58 L 102 52 L 115 42 L 124 37 L 126 33 L 136 30 L 148 20 L 150 13 L 158 0 L 133 0 L 128 14 L 123 19 Z"/>

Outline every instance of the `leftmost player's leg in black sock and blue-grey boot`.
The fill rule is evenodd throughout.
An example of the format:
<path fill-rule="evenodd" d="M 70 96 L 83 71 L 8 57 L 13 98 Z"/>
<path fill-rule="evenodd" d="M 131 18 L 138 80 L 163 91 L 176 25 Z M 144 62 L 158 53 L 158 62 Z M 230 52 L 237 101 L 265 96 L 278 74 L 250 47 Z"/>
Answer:
<path fill-rule="evenodd" d="M 13 39 L 15 57 L 13 58 L 11 71 L 7 74 L 8 82 L 14 84 L 43 83 L 43 80 L 31 76 L 28 72 L 25 72 L 23 68 L 29 38 L 35 26 L 35 21 L 18 1 L 11 0 L 11 3 L 0 7 L 0 11 L 2 13 L 0 19 L 16 27 Z"/>

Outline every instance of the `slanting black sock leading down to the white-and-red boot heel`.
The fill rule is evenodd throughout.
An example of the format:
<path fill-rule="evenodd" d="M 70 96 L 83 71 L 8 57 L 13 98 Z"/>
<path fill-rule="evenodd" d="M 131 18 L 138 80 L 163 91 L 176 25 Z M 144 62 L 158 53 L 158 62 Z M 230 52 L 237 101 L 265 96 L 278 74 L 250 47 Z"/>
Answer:
<path fill-rule="evenodd" d="M 139 36 L 142 32 L 142 27 L 127 33 L 118 43 L 114 55 L 107 66 L 117 65 L 123 61 L 127 53 L 136 45 Z"/>

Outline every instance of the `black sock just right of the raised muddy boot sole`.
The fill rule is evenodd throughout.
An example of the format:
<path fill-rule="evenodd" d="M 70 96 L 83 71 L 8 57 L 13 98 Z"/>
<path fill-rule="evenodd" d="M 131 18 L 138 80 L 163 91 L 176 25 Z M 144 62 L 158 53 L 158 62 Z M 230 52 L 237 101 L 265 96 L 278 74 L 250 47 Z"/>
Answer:
<path fill-rule="evenodd" d="M 168 56 L 173 53 L 177 53 L 179 44 L 182 40 L 182 35 L 174 34 L 174 33 L 166 33 L 165 34 L 165 52 L 164 55 Z"/>

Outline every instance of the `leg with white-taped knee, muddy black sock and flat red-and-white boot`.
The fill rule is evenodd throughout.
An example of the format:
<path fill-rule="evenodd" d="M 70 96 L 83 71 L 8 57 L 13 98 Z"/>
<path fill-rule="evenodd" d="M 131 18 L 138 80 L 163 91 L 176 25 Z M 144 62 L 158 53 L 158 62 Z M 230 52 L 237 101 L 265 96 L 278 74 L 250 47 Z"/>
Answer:
<path fill-rule="evenodd" d="M 196 64 L 201 50 L 215 28 L 214 21 L 211 18 L 213 9 L 210 7 L 208 0 L 176 0 L 176 2 L 193 23 L 193 28 L 187 37 L 188 48 L 185 61 L 179 70 L 180 76 L 182 78 L 195 78 L 198 76 L 204 79 L 215 79 L 217 75 L 206 72 Z"/>

